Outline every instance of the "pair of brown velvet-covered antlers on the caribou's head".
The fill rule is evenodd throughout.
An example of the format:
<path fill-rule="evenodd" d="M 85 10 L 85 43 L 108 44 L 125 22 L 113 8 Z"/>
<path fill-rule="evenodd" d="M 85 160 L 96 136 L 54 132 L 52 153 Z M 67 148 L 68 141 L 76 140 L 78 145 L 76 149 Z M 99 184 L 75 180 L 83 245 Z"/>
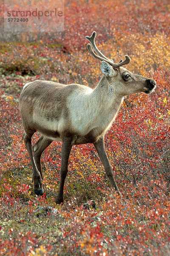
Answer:
<path fill-rule="evenodd" d="M 110 64 L 111 67 L 113 67 L 113 68 L 121 67 L 121 66 L 123 66 L 123 65 L 125 65 L 125 64 L 128 64 L 128 63 L 130 62 L 130 57 L 129 57 L 128 55 L 125 55 L 125 60 L 124 60 L 124 61 L 120 60 L 118 63 L 114 63 L 112 60 L 110 60 L 110 59 L 107 58 L 105 55 L 103 55 L 102 52 L 100 52 L 99 49 L 96 47 L 96 44 L 95 44 L 95 37 L 96 37 L 96 31 L 94 31 L 94 32 L 92 33 L 91 37 L 86 36 L 86 38 L 88 39 L 88 41 L 91 42 L 91 44 L 88 44 L 88 45 L 87 45 L 87 48 L 88 48 L 89 52 L 91 53 L 91 55 L 92 55 L 94 58 L 98 59 L 99 61 L 106 61 L 106 62 L 107 62 L 108 64 Z M 96 52 L 98 55 L 96 55 L 96 54 L 94 53 L 94 51 L 93 51 L 93 49 L 92 49 L 91 46 L 93 47 L 93 49 L 95 50 L 95 52 Z"/>

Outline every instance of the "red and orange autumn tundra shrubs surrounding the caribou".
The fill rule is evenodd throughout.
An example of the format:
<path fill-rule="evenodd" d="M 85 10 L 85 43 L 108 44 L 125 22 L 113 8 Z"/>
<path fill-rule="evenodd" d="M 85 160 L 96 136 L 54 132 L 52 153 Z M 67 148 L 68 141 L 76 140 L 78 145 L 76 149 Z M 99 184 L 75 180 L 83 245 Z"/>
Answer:
<path fill-rule="evenodd" d="M 65 0 L 64 15 L 64 32 L 0 34 L 0 255 L 168 256 L 169 1 Z M 35 195 L 19 97 L 35 80 L 95 90 L 101 61 L 88 52 L 85 38 L 94 30 L 107 58 L 119 63 L 128 55 L 130 63 L 119 69 L 154 79 L 156 88 L 125 96 L 105 134 L 122 198 L 92 141 L 72 145 L 65 201 L 56 205 L 62 142 L 53 141 L 42 154 L 44 193 Z M 32 144 L 39 138 L 34 133 Z"/>

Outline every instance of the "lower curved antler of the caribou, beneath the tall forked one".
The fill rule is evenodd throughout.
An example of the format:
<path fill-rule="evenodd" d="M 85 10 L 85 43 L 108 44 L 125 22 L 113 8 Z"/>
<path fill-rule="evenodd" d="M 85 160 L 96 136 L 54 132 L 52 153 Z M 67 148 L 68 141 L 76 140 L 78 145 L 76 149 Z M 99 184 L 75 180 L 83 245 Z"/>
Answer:
<path fill-rule="evenodd" d="M 110 64 L 111 65 L 111 67 L 113 67 L 113 68 L 116 68 L 116 67 L 121 67 L 121 66 L 123 66 L 123 65 L 125 65 L 125 64 L 128 64 L 129 62 L 130 62 L 130 57 L 128 56 L 128 55 L 125 55 L 125 61 L 119 61 L 118 63 L 113 63 L 111 60 L 109 60 L 109 59 L 105 59 L 105 58 L 102 58 L 101 56 L 98 56 L 98 55 L 96 55 L 95 53 L 94 53 L 94 51 L 93 51 L 93 49 L 92 49 L 92 47 L 91 47 L 91 44 L 88 44 L 87 45 L 87 48 L 88 48 L 88 50 L 89 50 L 89 52 L 91 53 L 91 55 L 94 57 L 94 58 L 96 58 L 97 60 L 99 60 L 99 61 L 106 61 L 108 64 Z"/>

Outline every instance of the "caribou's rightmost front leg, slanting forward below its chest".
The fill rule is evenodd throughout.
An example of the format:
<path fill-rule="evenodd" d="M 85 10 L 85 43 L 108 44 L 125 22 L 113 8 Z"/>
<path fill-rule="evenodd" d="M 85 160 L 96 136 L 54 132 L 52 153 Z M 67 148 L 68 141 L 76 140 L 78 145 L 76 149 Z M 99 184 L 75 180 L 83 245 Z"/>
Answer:
<path fill-rule="evenodd" d="M 118 186 L 116 184 L 116 181 L 114 179 L 114 176 L 113 176 L 113 171 L 112 171 L 112 166 L 108 160 L 108 156 L 106 154 L 106 151 L 105 151 L 105 141 L 104 141 L 104 137 L 100 138 L 97 142 L 94 143 L 94 146 L 96 148 L 96 151 L 99 155 L 99 158 L 100 160 L 102 161 L 102 164 L 105 168 L 105 172 L 111 182 L 111 186 L 112 188 L 116 189 L 116 192 L 118 193 L 118 195 L 121 196 L 122 198 L 122 194 L 120 193 L 119 189 L 118 189 Z"/>

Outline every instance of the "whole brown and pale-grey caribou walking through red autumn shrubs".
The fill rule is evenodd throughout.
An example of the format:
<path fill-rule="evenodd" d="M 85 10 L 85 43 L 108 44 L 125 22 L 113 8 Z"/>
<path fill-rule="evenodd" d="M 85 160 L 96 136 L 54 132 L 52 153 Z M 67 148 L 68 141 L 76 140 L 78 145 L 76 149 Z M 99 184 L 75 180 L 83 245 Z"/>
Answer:
<path fill-rule="evenodd" d="M 43 195 L 41 155 L 53 140 L 62 141 L 59 190 L 56 204 L 63 204 L 63 190 L 68 173 L 68 159 L 72 145 L 93 143 L 104 166 L 111 186 L 122 197 L 113 177 L 112 166 L 105 151 L 104 136 L 116 118 L 125 96 L 133 93 L 152 93 L 154 79 L 131 73 L 125 60 L 114 63 L 96 47 L 94 31 L 86 36 L 91 55 L 101 62 L 102 78 L 94 89 L 82 84 L 60 84 L 54 81 L 28 82 L 20 95 L 20 113 L 23 122 L 23 139 L 33 169 L 34 192 Z M 95 53 L 96 52 L 96 53 Z M 89 70 L 90 72 L 90 70 Z M 31 137 L 41 135 L 32 146 Z"/>

